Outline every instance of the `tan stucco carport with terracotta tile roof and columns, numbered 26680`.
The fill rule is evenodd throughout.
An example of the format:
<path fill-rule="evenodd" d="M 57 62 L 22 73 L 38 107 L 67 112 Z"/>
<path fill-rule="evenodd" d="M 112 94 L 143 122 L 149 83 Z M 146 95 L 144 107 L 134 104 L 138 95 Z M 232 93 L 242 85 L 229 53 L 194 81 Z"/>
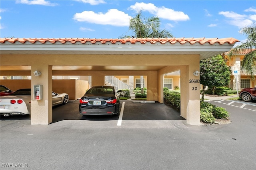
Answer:
<path fill-rule="evenodd" d="M 42 85 L 42 100 L 32 96 L 32 125 L 52 122 L 52 75 L 90 75 L 92 86 L 105 75 L 147 76 L 147 100 L 163 103 L 163 75 L 180 70 L 180 115 L 200 124 L 199 61 L 230 51 L 234 38 L 0 38 L 0 75 L 31 75 Z M 40 71 L 40 76 L 34 72 Z M 2 80 L 1 80 L 2 81 Z"/>

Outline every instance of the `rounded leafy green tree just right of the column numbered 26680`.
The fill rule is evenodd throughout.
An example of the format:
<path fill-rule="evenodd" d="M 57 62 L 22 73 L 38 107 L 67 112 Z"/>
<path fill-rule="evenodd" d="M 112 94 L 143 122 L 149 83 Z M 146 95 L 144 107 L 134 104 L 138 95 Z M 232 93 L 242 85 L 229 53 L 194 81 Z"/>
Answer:
<path fill-rule="evenodd" d="M 200 61 L 200 84 L 203 85 L 202 101 L 206 86 L 215 93 L 216 87 L 223 87 L 230 83 L 231 69 L 226 65 L 224 56 L 215 55 Z"/>

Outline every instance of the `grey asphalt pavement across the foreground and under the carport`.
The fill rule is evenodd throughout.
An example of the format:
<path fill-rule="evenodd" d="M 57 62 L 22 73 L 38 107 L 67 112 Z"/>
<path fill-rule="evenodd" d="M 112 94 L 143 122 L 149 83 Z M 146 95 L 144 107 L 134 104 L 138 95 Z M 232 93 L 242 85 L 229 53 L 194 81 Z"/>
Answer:
<path fill-rule="evenodd" d="M 118 116 L 80 115 L 78 101 L 54 107 L 50 125 L 1 117 L 1 170 L 256 168 L 255 111 L 215 102 L 232 123 L 187 125 L 164 104 L 122 102 L 121 125 Z"/>

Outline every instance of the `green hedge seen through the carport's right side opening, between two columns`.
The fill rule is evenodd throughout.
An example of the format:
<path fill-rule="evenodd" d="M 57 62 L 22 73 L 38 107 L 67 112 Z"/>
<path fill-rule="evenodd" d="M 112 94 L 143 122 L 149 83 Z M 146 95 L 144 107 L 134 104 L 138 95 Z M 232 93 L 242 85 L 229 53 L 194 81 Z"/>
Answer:
<path fill-rule="evenodd" d="M 180 93 L 170 90 L 164 91 L 164 101 L 176 108 L 180 108 Z"/>

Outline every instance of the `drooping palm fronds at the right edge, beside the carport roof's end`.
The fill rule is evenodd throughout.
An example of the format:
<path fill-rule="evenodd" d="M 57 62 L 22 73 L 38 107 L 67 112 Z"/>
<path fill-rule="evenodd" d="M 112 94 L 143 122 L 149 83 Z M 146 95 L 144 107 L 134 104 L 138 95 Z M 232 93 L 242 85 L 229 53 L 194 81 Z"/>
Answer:
<path fill-rule="evenodd" d="M 241 67 L 254 80 L 256 70 L 256 24 L 254 23 L 252 26 L 241 28 L 240 32 L 248 36 L 247 41 L 232 48 L 229 57 L 231 58 L 235 54 L 243 53 L 244 51 L 250 51 L 242 59 Z"/>

